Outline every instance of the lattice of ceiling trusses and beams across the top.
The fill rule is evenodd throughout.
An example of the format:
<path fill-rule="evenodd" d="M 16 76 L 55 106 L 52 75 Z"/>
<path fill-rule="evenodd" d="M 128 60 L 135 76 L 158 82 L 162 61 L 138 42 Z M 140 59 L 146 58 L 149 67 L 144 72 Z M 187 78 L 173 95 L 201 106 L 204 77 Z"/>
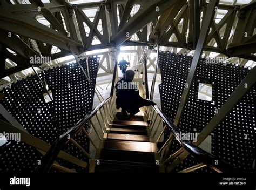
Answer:
<path fill-rule="evenodd" d="M 55 60 L 71 55 L 71 51 L 80 55 L 95 49 L 118 49 L 121 45 L 152 47 L 156 43 L 172 49 L 194 50 L 208 6 L 196 0 L 106 0 L 77 5 L 64 0 L 45 4 L 39 0 L 30 0 L 31 4 L 15 2 L 5 0 L 0 4 L 0 78 L 31 67 L 31 56 Z M 139 9 L 132 14 L 134 5 L 139 5 Z M 86 9 L 97 9 L 93 20 L 86 15 Z M 246 63 L 243 59 L 255 61 L 255 3 L 219 4 L 219 10 L 226 13 L 215 18 L 218 22 L 211 23 L 204 51 L 238 57 L 241 65 Z M 42 24 L 40 19 L 50 24 Z M 136 41 L 132 38 L 134 34 L 138 37 Z M 93 44 L 94 39 L 99 43 Z M 16 66 L 6 67 L 6 59 Z M 106 73 L 111 73 L 110 67 L 100 66 Z"/>

